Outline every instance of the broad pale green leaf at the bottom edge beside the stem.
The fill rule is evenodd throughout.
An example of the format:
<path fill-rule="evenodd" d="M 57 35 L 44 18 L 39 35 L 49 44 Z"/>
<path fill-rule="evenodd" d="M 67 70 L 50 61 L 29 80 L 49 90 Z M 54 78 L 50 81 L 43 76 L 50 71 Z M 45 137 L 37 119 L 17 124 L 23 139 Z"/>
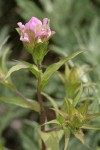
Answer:
<path fill-rule="evenodd" d="M 44 133 L 40 131 L 40 136 L 46 145 L 46 150 L 59 150 L 59 137 L 57 132 Z"/>

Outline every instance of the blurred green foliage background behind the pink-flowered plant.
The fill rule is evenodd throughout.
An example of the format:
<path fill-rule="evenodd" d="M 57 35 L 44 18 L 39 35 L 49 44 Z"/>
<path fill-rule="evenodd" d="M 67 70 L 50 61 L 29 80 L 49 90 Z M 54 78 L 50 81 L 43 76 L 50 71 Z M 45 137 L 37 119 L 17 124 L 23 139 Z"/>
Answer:
<path fill-rule="evenodd" d="M 25 23 L 32 16 L 41 20 L 44 17 L 49 18 L 52 30 L 56 31 L 56 35 L 50 41 L 50 52 L 44 64 L 53 63 L 61 56 L 67 56 L 76 50 L 87 50 L 72 63 L 85 64 L 92 68 L 92 72 L 89 72 L 87 77 L 97 83 L 92 91 L 95 96 L 92 111 L 98 112 L 100 110 L 100 0 L 0 0 L 0 59 L 5 50 L 9 49 L 9 61 L 6 64 L 8 68 L 13 65 L 13 59 L 32 62 L 15 30 L 17 22 Z M 36 97 L 36 82 L 31 74 L 19 71 L 14 73 L 12 78 L 26 97 Z M 58 103 L 61 102 L 64 90 L 58 77 L 52 77 L 45 91 L 56 98 Z M 10 95 L 13 93 L 0 85 L 0 96 Z M 39 116 L 33 111 L 0 103 L 0 150 L 38 150 L 39 141 L 36 132 L 38 121 Z M 94 123 L 100 126 L 100 118 Z M 91 150 L 100 150 L 100 132 L 84 132 Z M 74 149 L 88 150 L 72 137 L 68 150 Z"/>

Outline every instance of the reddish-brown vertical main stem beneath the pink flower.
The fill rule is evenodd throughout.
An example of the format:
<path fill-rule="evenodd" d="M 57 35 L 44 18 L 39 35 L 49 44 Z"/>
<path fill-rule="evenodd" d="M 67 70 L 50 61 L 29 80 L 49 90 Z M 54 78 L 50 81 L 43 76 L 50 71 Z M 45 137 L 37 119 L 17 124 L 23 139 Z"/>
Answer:
<path fill-rule="evenodd" d="M 41 66 L 40 64 L 38 64 L 38 69 L 41 70 Z M 41 126 L 41 131 L 45 131 L 45 125 L 43 125 L 45 123 L 45 119 L 46 119 L 46 112 L 45 112 L 45 108 L 43 106 L 43 100 L 42 100 L 42 96 L 41 96 L 41 91 L 39 90 L 39 85 L 41 82 L 41 77 L 38 78 L 38 84 L 37 84 L 37 98 L 38 98 L 38 102 L 40 104 L 40 124 Z M 45 144 L 42 141 L 42 149 L 41 150 L 46 150 Z"/>

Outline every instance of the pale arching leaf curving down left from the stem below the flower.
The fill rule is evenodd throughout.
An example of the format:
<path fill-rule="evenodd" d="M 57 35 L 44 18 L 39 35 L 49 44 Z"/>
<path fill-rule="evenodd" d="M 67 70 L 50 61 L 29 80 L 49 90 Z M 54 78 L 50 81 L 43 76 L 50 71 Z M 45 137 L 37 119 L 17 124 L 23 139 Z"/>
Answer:
<path fill-rule="evenodd" d="M 40 72 L 35 65 L 32 65 L 32 64 L 27 63 L 27 62 L 20 62 L 17 65 L 10 68 L 5 79 L 7 79 L 13 72 L 18 71 L 20 69 L 29 69 L 36 77 L 40 76 Z"/>

